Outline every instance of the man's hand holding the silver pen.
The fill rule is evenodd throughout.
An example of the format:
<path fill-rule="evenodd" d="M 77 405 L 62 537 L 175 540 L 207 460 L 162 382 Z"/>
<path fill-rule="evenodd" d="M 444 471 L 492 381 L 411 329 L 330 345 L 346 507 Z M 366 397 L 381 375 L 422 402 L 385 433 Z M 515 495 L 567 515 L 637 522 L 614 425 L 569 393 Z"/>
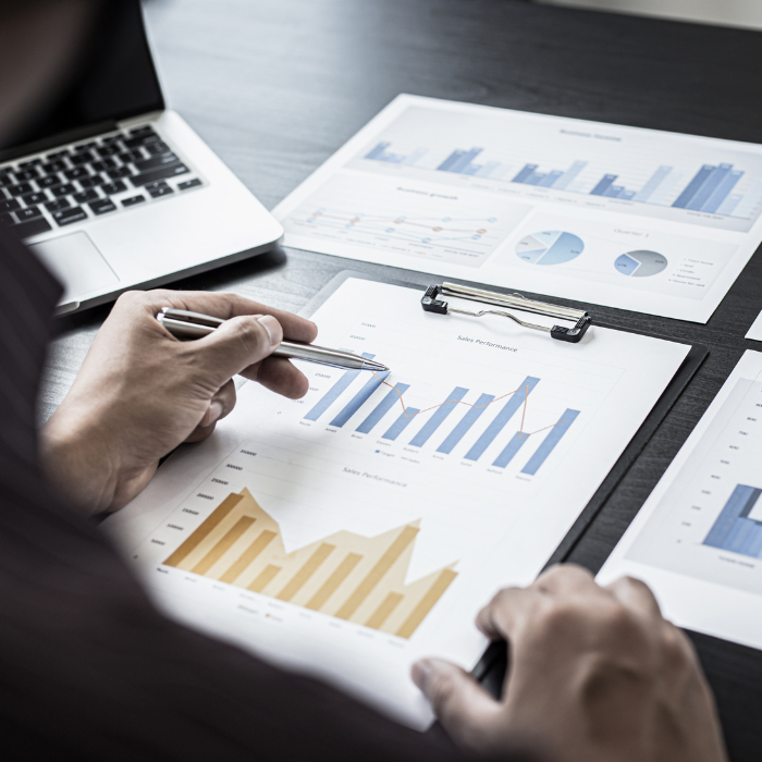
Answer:
<path fill-rule="evenodd" d="M 162 307 L 226 322 L 181 342 L 156 320 Z M 307 379 L 288 360 L 269 357 L 284 334 L 311 342 L 317 328 L 235 294 L 124 294 L 42 429 L 50 478 L 87 513 L 115 511 L 150 481 L 161 457 L 207 438 L 233 409 L 236 373 L 286 397 L 304 396 Z"/>

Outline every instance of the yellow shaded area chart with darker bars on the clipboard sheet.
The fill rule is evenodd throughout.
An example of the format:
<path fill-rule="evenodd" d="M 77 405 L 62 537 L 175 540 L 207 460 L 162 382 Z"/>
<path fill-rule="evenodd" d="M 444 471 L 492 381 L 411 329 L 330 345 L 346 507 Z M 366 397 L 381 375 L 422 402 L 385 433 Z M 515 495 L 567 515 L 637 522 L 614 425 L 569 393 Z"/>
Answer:
<path fill-rule="evenodd" d="M 278 523 L 244 489 L 164 565 L 409 638 L 457 577 L 452 564 L 405 585 L 417 534 L 418 521 L 370 538 L 341 531 L 286 553 Z"/>

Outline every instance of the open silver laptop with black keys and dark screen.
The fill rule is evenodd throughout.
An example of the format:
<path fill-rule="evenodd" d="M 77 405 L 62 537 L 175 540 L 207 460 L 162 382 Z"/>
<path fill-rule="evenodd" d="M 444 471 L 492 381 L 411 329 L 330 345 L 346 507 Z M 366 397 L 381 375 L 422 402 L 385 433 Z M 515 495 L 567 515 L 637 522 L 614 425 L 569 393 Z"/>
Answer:
<path fill-rule="evenodd" d="M 0 152 L 0 224 L 63 282 L 59 315 L 267 251 L 283 236 L 164 108 L 139 0 L 103 5 L 73 85 Z"/>

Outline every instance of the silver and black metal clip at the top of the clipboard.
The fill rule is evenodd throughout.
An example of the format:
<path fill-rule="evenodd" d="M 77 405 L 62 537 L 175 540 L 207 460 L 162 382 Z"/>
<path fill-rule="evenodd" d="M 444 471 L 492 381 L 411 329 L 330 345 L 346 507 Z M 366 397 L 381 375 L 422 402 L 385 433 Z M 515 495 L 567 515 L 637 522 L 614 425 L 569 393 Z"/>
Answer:
<path fill-rule="evenodd" d="M 519 309 L 523 312 L 534 312 L 536 315 L 546 315 L 551 318 L 560 320 L 570 320 L 575 324 L 573 328 L 564 325 L 538 325 L 536 323 L 526 322 L 517 318 L 512 312 L 506 312 L 505 309 L 481 309 L 479 311 L 460 309 L 451 307 L 440 296 L 455 296 L 459 299 L 470 299 L 471 302 L 481 302 L 493 307 L 512 307 Z M 504 318 L 509 318 L 523 328 L 531 328 L 534 331 L 543 331 L 550 333 L 551 339 L 557 339 L 560 342 L 569 342 L 576 344 L 586 334 L 587 330 L 592 325 L 592 318 L 581 309 L 572 309 L 570 307 L 558 307 L 545 302 L 534 302 L 528 299 L 521 294 L 497 294 L 494 291 L 484 291 L 483 288 L 471 288 L 470 286 L 462 286 L 455 283 L 442 283 L 442 285 L 432 285 L 426 290 L 426 294 L 420 300 L 421 307 L 427 312 L 435 312 L 438 315 L 447 315 L 447 312 L 457 312 L 458 315 L 469 315 L 474 318 L 480 318 L 483 315 L 500 315 Z"/>

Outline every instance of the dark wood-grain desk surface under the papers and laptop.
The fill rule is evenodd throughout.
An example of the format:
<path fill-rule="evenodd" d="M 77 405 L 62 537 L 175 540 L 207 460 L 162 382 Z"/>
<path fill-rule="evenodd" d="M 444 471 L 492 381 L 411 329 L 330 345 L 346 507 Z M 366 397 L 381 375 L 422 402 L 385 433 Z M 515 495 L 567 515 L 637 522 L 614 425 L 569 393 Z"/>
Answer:
<path fill-rule="evenodd" d="M 517 0 L 149 0 L 170 106 L 274 206 L 398 93 L 762 143 L 762 35 Z M 182 283 L 296 310 L 336 272 L 381 268 L 281 250 Z M 405 271 L 395 271 L 405 279 Z M 711 356 L 574 549 L 597 569 L 746 348 L 758 253 L 706 325 L 597 308 Z M 108 314 L 61 323 L 47 417 Z M 762 470 L 762 465 L 761 465 Z M 762 653 L 695 637 L 740 762 L 762 757 Z"/>

